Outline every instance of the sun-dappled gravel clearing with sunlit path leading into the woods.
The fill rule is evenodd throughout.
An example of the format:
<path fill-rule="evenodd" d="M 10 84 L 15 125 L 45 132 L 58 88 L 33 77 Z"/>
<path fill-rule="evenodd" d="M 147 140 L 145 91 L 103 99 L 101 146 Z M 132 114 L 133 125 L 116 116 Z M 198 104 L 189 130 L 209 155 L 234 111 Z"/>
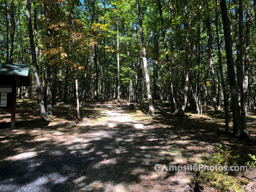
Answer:
<path fill-rule="evenodd" d="M 194 162 L 185 157 L 194 155 L 187 140 L 176 142 L 163 126 L 104 126 L 138 122 L 125 105 L 93 107 L 102 122 L 0 130 L 0 191 L 183 191 L 191 173 L 156 172 L 154 164 Z"/>

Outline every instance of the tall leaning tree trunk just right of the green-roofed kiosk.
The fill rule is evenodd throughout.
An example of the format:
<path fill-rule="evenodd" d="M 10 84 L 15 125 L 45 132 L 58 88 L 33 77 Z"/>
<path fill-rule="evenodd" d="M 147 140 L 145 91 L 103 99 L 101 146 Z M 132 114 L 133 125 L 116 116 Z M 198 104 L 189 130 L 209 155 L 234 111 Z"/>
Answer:
<path fill-rule="evenodd" d="M 32 55 L 32 63 L 33 63 L 33 71 L 35 76 L 36 83 L 36 93 L 38 96 L 39 108 L 40 108 L 40 118 L 46 120 L 46 112 L 44 108 L 44 101 L 42 96 L 42 90 L 40 85 L 40 77 L 39 77 L 39 68 L 36 59 L 36 49 L 34 44 L 34 36 L 31 22 L 31 13 L 30 13 L 30 0 L 26 0 L 26 15 L 27 15 L 27 24 L 28 24 L 28 34 L 29 34 L 29 42 L 30 42 L 30 50 Z"/>

